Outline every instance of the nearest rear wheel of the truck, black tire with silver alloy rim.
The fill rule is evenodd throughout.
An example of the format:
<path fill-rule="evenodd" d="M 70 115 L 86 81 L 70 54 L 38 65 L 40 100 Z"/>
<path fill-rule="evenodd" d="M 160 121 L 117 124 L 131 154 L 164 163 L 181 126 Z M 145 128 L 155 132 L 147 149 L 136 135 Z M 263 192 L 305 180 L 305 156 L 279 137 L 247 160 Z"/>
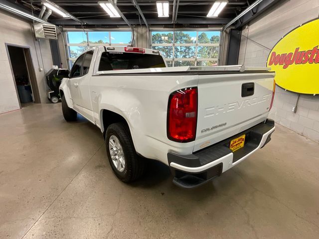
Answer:
<path fill-rule="evenodd" d="M 144 159 L 137 155 L 130 131 L 124 123 L 113 123 L 105 135 L 106 152 L 115 175 L 123 182 L 132 182 L 144 173 Z"/>

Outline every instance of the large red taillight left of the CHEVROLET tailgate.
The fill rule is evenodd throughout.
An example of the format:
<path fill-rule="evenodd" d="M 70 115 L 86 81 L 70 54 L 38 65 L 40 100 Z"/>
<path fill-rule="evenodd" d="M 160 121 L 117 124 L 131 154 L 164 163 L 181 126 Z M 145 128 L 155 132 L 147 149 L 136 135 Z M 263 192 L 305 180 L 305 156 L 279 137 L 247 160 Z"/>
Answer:
<path fill-rule="evenodd" d="M 195 140 L 197 125 L 197 88 L 184 88 L 169 96 L 167 137 L 176 142 Z"/>

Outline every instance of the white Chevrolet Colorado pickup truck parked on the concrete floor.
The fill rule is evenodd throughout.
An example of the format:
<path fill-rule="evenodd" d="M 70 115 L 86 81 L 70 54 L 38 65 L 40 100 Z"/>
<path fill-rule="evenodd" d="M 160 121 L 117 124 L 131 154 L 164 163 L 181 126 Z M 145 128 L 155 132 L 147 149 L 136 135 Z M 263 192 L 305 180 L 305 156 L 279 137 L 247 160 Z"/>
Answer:
<path fill-rule="evenodd" d="M 96 124 L 116 176 L 139 178 L 145 160 L 168 165 L 184 188 L 219 176 L 265 146 L 274 72 L 244 66 L 170 67 L 157 50 L 100 46 L 60 85 L 67 121 Z"/>

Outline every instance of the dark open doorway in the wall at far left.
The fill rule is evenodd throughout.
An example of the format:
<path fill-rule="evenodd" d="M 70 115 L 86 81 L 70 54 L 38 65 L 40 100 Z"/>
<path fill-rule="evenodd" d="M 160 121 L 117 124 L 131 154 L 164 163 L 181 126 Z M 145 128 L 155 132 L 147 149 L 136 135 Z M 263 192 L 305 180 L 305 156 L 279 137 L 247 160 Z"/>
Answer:
<path fill-rule="evenodd" d="M 30 49 L 9 44 L 6 48 L 20 108 L 30 103 L 41 103 Z"/>

